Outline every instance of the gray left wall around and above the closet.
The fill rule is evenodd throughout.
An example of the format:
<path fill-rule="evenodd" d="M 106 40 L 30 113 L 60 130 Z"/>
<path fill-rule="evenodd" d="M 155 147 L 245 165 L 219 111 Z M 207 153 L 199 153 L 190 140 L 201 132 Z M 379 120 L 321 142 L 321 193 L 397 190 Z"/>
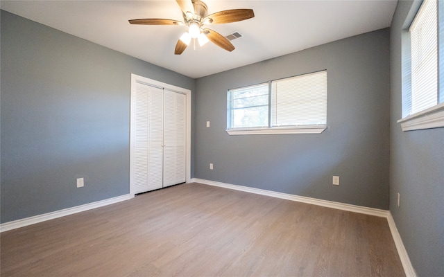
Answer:
<path fill-rule="evenodd" d="M 1 11 L 1 222 L 129 193 L 131 73 L 195 90 L 194 79 Z"/>

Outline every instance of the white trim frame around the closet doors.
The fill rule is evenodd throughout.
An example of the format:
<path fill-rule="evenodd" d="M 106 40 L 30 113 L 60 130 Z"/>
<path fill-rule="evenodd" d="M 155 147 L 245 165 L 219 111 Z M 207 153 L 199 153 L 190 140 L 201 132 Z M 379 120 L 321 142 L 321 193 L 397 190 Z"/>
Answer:
<path fill-rule="evenodd" d="M 184 89 L 182 87 L 176 87 L 172 84 L 167 84 L 164 82 L 159 82 L 157 80 L 149 79 L 140 75 L 131 74 L 131 97 L 130 97 L 130 195 L 134 197 L 135 195 L 135 184 L 134 184 L 134 169 L 135 169 L 135 159 L 134 159 L 134 148 L 135 148 L 135 89 L 136 84 L 142 83 L 151 87 L 158 87 L 160 89 L 168 89 L 169 91 L 185 94 L 186 96 L 186 138 L 185 138 L 185 180 L 186 183 L 191 181 L 191 90 Z"/>

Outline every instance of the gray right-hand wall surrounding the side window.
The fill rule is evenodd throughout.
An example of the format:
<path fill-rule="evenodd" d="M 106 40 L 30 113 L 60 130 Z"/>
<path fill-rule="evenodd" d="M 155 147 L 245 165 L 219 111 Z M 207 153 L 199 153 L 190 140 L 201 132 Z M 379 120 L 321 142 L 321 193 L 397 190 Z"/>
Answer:
<path fill-rule="evenodd" d="M 411 6 L 399 1 L 391 26 L 390 211 L 418 276 L 444 276 L 444 128 L 402 132 L 396 122 L 402 117 L 401 36 Z"/>

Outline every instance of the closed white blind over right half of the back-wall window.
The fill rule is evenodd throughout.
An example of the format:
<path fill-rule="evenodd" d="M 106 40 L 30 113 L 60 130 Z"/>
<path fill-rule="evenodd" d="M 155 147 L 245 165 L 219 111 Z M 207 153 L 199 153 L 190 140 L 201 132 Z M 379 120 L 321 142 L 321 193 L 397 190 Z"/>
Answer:
<path fill-rule="evenodd" d="M 325 125 L 327 71 L 271 82 L 272 126 Z"/>

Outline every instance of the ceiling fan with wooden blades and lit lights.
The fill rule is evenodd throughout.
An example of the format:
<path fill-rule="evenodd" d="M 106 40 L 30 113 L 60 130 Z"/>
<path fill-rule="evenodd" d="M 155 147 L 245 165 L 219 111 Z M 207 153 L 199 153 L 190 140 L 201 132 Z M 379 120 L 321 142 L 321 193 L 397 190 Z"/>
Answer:
<path fill-rule="evenodd" d="M 139 25 L 180 25 L 188 26 L 188 31 L 185 32 L 174 50 L 174 54 L 180 55 L 191 42 L 191 39 L 198 39 L 200 46 L 207 43 L 209 40 L 217 46 L 226 51 L 233 51 L 234 46 L 231 42 L 209 28 L 204 28 L 204 25 L 211 24 L 225 24 L 236 21 L 242 21 L 255 17 L 253 10 L 250 9 L 235 9 L 222 10 L 215 12 L 212 15 L 207 15 L 207 5 L 200 0 L 176 0 L 182 10 L 183 21 L 174 19 L 131 19 L 130 24 Z"/>

